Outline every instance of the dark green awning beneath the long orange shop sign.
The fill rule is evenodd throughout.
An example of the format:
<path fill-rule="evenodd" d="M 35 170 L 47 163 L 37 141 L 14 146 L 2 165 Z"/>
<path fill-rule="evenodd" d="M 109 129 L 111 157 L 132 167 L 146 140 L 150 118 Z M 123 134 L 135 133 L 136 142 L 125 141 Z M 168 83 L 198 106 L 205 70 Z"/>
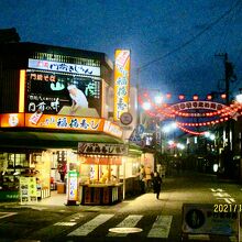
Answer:
<path fill-rule="evenodd" d="M 102 133 L 0 131 L 0 148 L 77 148 L 78 142 L 123 143 Z"/>

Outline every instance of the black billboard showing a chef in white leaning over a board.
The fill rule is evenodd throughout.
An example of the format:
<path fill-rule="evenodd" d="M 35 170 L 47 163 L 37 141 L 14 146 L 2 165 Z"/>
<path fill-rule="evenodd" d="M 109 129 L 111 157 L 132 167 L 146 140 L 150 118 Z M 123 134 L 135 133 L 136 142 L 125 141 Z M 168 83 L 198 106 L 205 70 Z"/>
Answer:
<path fill-rule="evenodd" d="M 101 116 L 100 78 L 28 70 L 25 112 Z"/>

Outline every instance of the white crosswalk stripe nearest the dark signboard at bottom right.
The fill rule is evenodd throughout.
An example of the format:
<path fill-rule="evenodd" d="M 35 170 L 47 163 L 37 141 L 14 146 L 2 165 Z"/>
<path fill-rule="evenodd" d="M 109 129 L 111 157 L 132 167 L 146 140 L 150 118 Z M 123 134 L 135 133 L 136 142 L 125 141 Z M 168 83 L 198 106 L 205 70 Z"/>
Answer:
<path fill-rule="evenodd" d="M 147 238 L 168 238 L 172 220 L 172 216 L 157 216 Z"/>

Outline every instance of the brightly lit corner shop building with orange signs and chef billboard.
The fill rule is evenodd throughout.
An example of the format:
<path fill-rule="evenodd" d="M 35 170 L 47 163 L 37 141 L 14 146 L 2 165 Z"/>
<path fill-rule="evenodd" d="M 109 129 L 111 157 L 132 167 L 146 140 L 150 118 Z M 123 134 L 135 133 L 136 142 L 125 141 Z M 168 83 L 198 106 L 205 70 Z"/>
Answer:
<path fill-rule="evenodd" d="M 44 199 L 51 190 L 66 193 L 67 204 L 122 200 L 142 152 L 111 121 L 112 75 L 103 53 L 0 45 L 0 200 Z"/>

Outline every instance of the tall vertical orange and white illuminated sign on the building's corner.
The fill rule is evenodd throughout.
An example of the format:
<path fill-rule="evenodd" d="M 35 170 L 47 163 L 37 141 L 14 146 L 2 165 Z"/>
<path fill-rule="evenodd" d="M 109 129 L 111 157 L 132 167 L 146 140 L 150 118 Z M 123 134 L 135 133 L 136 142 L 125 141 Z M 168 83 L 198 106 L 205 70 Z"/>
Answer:
<path fill-rule="evenodd" d="M 130 51 L 117 50 L 114 62 L 114 120 L 129 111 Z"/>

